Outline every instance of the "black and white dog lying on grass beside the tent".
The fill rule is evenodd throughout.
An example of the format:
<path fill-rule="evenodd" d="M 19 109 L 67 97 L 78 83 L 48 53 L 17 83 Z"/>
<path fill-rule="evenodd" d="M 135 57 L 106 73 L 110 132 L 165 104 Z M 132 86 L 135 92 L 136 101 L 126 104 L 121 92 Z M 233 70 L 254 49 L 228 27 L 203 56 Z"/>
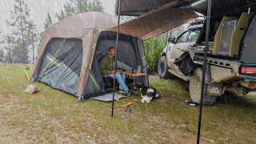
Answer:
<path fill-rule="evenodd" d="M 142 103 L 150 103 L 151 100 L 159 98 L 157 90 L 153 86 L 142 86 L 141 88 Z"/>

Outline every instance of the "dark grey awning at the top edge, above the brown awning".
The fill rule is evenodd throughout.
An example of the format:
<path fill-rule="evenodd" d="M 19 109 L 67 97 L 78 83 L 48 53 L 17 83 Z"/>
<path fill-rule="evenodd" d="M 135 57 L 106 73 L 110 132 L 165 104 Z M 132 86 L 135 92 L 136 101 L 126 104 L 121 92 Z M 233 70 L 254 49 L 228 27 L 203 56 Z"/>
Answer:
<path fill-rule="evenodd" d="M 175 5 L 178 0 L 120 0 L 120 14 L 129 16 L 140 16 L 151 10 L 157 10 L 160 6 L 167 3 Z M 118 2 L 116 2 L 118 3 Z M 116 5 L 116 14 L 118 14 L 118 5 Z"/>

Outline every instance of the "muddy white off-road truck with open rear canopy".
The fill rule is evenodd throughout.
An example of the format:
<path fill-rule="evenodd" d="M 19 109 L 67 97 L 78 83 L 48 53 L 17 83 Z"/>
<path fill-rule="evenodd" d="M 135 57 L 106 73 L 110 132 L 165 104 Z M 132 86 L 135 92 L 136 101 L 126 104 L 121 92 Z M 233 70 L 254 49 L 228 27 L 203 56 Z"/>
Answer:
<path fill-rule="evenodd" d="M 239 6 L 238 6 L 239 7 Z M 249 6 L 241 11 L 211 18 L 207 51 L 207 88 L 203 102 L 214 104 L 226 91 L 238 96 L 256 91 L 256 14 Z M 178 77 L 190 82 L 190 98 L 200 102 L 206 19 L 191 22 L 177 38 L 168 38 L 158 62 L 162 78 Z M 189 53 L 197 68 L 186 76 L 175 60 Z"/>

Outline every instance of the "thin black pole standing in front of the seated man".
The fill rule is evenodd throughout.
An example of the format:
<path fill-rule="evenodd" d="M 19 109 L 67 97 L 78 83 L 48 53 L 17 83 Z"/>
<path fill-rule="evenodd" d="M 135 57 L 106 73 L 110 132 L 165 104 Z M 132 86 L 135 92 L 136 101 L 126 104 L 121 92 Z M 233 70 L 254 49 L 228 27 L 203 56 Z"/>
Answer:
<path fill-rule="evenodd" d="M 119 42 L 119 29 L 120 29 L 120 5 L 121 0 L 118 0 L 118 30 L 117 30 L 117 39 L 115 42 L 115 57 L 114 57 L 114 70 L 118 70 L 118 42 Z M 114 86 L 113 86 L 113 97 L 112 97 L 112 111 L 111 111 L 111 117 L 114 116 L 114 93 L 115 93 L 115 82 L 116 82 L 116 74 L 114 74 Z"/>

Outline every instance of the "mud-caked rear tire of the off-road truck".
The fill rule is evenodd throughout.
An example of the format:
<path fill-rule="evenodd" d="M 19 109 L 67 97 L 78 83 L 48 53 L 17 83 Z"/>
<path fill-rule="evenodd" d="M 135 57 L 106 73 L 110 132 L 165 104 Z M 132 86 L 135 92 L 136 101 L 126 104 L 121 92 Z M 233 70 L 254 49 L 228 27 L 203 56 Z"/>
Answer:
<path fill-rule="evenodd" d="M 202 88 L 202 68 L 194 70 L 193 76 L 190 78 L 190 98 L 193 102 L 200 103 L 201 100 L 201 88 Z M 216 101 L 215 96 L 203 97 L 202 103 L 204 105 L 213 105 Z"/>

